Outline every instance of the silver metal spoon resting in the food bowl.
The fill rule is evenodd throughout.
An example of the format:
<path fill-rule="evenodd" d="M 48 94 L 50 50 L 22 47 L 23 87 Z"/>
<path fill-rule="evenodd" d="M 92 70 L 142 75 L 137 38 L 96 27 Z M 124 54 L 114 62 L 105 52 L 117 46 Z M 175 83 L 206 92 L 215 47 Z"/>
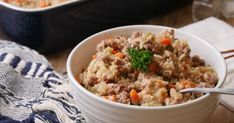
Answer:
<path fill-rule="evenodd" d="M 180 91 L 180 93 L 190 92 L 234 95 L 234 88 L 187 88 Z"/>

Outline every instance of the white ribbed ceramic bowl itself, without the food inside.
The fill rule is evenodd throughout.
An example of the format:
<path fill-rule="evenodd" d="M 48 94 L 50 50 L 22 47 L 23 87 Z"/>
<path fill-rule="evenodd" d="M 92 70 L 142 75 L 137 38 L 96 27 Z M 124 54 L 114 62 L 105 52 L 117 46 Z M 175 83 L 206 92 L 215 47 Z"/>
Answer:
<path fill-rule="evenodd" d="M 171 106 L 141 107 L 104 100 L 86 90 L 74 78 L 82 68 L 87 67 L 96 45 L 102 39 L 129 35 L 134 31 L 158 33 L 168 28 L 153 25 L 113 28 L 88 37 L 72 50 L 67 61 L 68 77 L 77 105 L 88 123 L 202 123 L 209 119 L 217 107 L 219 95 L 206 94 L 193 101 Z M 191 53 L 199 55 L 215 69 L 219 77 L 216 88 L 219 88 L 226 78 L 226 64 L 219 51 L 206 41 L 176 29 L 175 36 L 188 39 Z"/>

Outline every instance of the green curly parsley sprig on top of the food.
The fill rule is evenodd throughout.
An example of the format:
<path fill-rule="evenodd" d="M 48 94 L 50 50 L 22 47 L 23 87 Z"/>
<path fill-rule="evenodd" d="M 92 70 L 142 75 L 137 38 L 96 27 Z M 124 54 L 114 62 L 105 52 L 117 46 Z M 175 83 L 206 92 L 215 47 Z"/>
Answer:
<path fill-rule="evenodd" d="M 128 49 L 128 54 L 131 58 L 132 66 L 135 69 L 148 71 L 148 66 L 152 62 L 153 53 L 149 50 L 137 50 L 134 48 Z"/>

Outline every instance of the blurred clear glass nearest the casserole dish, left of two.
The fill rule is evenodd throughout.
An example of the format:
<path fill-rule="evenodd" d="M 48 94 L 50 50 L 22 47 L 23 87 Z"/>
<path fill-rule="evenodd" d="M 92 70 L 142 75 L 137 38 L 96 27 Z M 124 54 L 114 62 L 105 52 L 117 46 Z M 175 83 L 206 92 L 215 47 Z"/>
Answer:
<path fill-rule="evenodd" d="M 220 0 L 194 0 L 192 5 L 193 21 L 210 16 L 219 17 Z"/>

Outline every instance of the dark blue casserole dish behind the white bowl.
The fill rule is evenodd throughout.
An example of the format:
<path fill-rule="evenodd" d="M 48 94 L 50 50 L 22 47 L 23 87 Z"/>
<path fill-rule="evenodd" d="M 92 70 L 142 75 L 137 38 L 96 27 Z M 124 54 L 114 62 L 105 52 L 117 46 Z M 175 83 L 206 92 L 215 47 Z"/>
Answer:
<path fill-rule="evenodd" d="M 0 1 L 0 22 L 7 36 L 41 52 L 77 44 L 106 28 L 143 23 L 191 0 L 69 0 L 25 9 Z"/>

